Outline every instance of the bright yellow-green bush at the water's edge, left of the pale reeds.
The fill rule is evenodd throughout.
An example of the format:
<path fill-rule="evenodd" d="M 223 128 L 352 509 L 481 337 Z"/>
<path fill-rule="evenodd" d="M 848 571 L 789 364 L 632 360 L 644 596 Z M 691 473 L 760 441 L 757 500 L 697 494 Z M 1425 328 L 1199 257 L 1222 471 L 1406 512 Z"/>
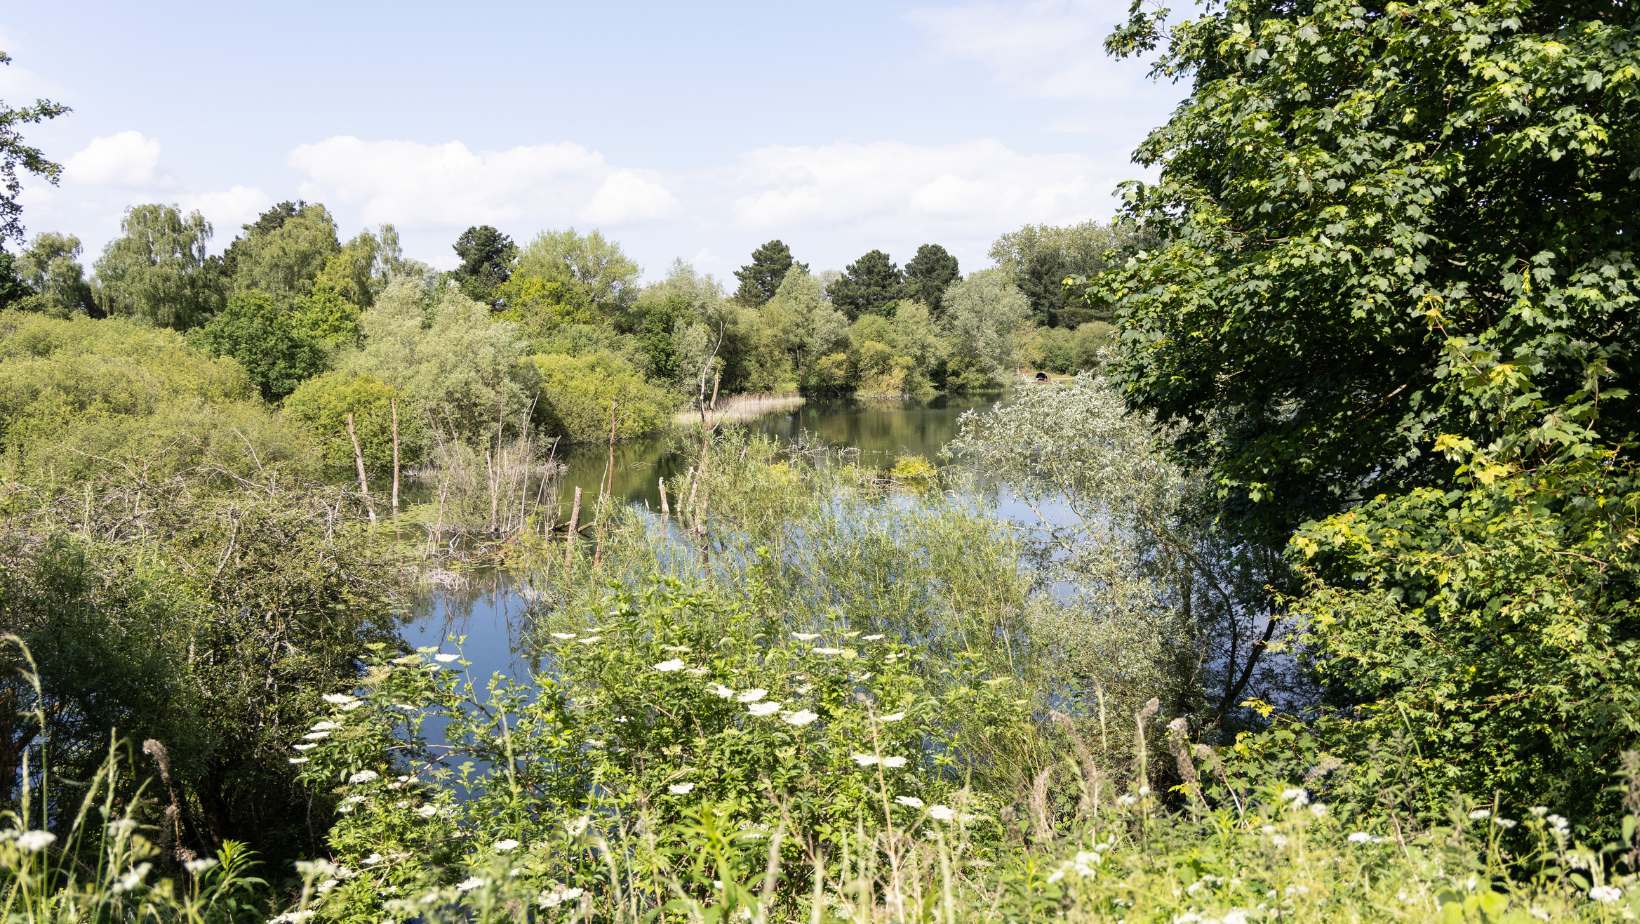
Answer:
<path fill-rule="evenodd" d="M 666 425 L 677 400 L 645 381 L 612 353 L 587 356 L 536 355 L 530 358 L 540 382 L 536 417 L 548 435 L 566 443 L 597 443 L 651 433 Z"/>

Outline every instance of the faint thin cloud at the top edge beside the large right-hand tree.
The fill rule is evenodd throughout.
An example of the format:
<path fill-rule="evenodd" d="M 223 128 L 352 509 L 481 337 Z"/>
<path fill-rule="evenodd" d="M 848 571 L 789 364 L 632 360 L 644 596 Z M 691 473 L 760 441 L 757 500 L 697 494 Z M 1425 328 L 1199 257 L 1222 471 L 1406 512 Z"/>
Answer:
<path fill-rule="evenodd" d="M 938 51 L 982 64 L 1027 95 L 1117 100 L 1145 72 L 1104 51 L 1104 38 L 1125 7 L 1112 0 L 974 0 L 918 8 L 909 18 Z"/>

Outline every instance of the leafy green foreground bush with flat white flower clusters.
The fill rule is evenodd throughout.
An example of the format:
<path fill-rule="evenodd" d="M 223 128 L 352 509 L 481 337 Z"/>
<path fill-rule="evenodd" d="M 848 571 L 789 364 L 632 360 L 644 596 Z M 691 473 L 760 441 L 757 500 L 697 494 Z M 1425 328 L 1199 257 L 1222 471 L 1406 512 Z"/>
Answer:
<path fill-rule="evenodd" d="M 895 839 L 1002 844 L 977 739 L 1028 730 L 1018 681 L 676 579 L 581 612 L 528 681 L 481 691 L 456 653 L 379 648 L 326 698 L 292 757 L 341 812 L 305 901 L 371 921 L 768 909 Z"/>

